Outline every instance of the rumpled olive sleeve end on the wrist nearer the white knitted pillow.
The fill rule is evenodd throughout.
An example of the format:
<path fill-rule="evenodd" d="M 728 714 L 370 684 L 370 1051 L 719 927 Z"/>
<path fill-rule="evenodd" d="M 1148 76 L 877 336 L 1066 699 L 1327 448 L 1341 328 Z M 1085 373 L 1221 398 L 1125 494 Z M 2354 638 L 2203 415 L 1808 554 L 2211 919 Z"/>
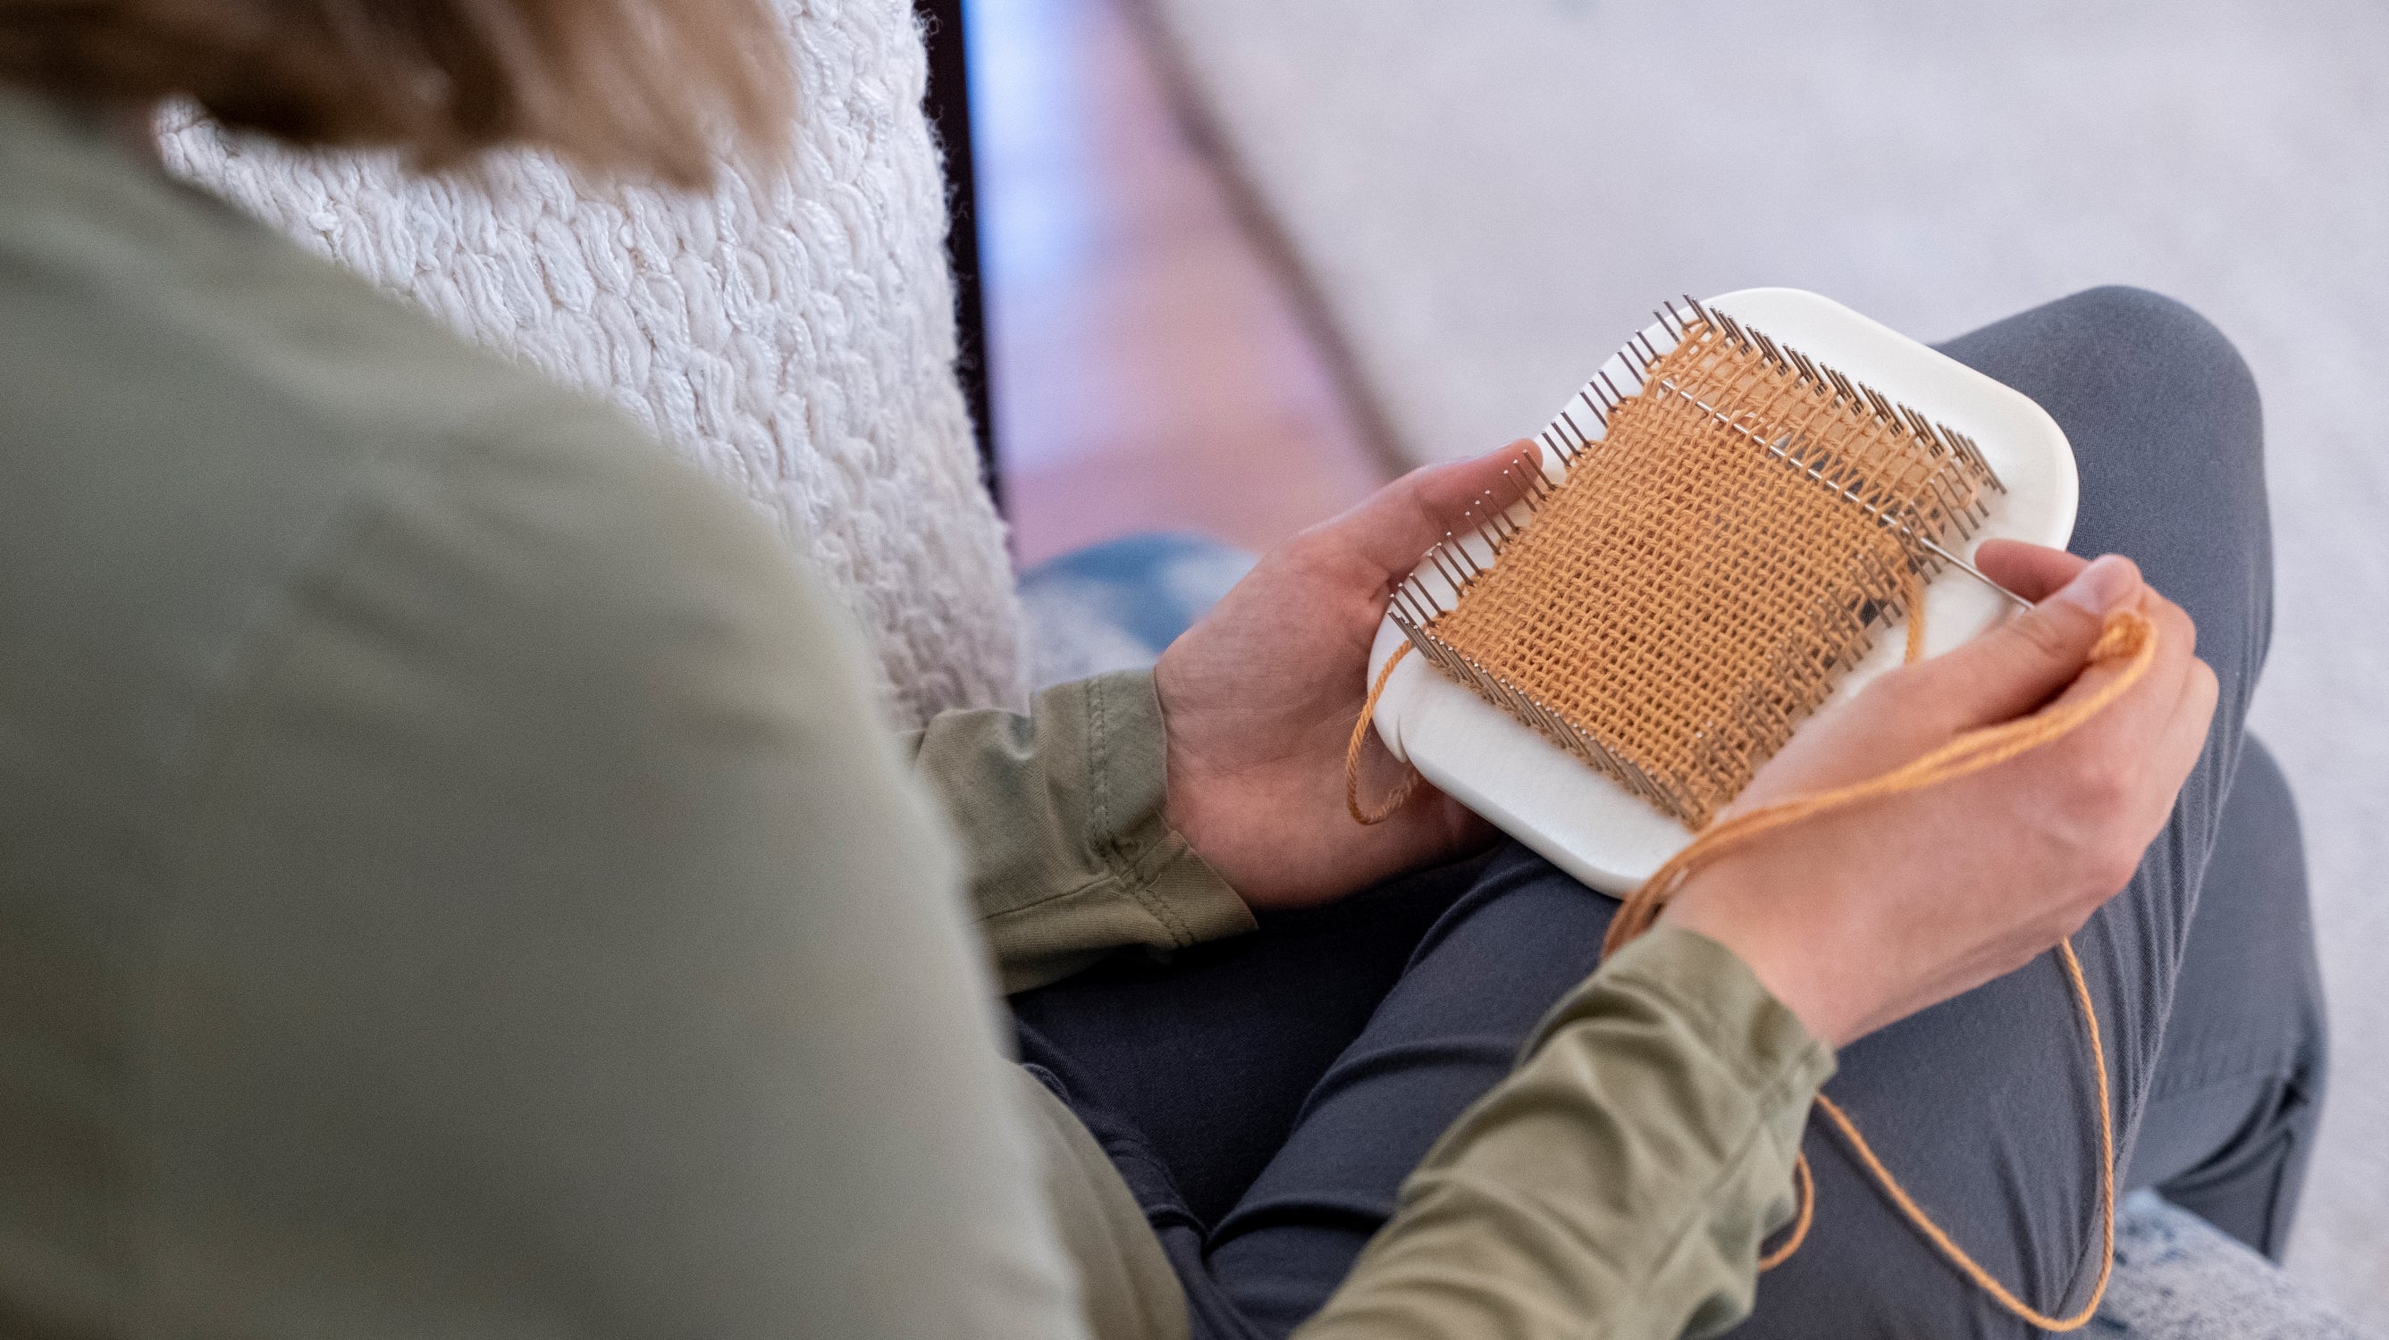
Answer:
<path fill-rule="evenodd" d="M 1161 697 L 1149 671 L 1049 688 L 1034 712 L 946 712 L 910 736 L 915 774 L 963 836 L 1003 991 L 1116 948 L 1252 929 L 1252 912 L 1163 819 Z"/>

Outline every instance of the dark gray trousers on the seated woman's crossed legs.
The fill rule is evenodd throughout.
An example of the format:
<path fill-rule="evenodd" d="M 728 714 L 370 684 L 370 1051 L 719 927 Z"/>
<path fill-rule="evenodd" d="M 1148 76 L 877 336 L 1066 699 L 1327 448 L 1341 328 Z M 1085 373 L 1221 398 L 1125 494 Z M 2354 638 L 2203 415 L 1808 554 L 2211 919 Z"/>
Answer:
<path fill-rule="evenodd" d="M 1947 354 L 2074 442 L 2074 547 L 2121 552 L 2198 621 L 2222 705 L 2164 834 L 2076 948 L 2098 1001 L 2126 1187 L 2279 1254 L 2322 1096 L 2298 819 L 2243 740 L 2272 626 L 2255 385 L 2188 308 L 2095 289 Z M 1402 1178 L 1596 960 L 1613 898 L 1524 848 L 1395 881 L 1175 963 L 1015 998 L 1022 1058 L 1113 1151 L 1197 1335 L 1316 1311 Z M 2095 1089 L 2055 958 L 1842 1051 L 1828 1092 L 1983 1266 L 2038 1309 L 2098 1276 Z M 1742 1338 L 2023 1335 L 1811 1127 L 1816 1230 Z"/>

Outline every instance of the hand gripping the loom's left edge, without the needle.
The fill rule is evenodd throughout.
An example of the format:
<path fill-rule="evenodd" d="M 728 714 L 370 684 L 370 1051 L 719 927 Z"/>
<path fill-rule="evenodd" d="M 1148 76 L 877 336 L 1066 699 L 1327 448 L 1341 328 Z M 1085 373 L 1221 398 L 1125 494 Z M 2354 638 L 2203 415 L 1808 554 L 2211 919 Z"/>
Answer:
<path fill-rule="evenodd" d="M 1531 442 L 1515 442 L 1402 475 L 1264 554 L 1161 654 L 1171 826 L 1254 910 L 1328 903 L 1493 838 L 1424 783 L 1383 824 L 1357 824 L 1345 810 L 1345 745 L 1393 585 L 1474 509 L 1515 497 L 1505 468 L 1536 461 Z M 1364 798 L 1402 776 L 1371 733 Z"/>

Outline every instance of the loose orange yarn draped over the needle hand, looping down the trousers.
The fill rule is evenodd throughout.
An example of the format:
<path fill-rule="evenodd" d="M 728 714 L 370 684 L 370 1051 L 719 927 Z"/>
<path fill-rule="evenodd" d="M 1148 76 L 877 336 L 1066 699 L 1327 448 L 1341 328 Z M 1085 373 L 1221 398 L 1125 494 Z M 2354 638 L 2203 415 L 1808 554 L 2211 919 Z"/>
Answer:
<path fill-rule="evenodd" d="M 1921 604 L 1911 607 L 1911 619 L 1921 621 Z M 1909 631 L 1911 659 L 1921 640 L 1923 638 L 1916 633 L 1916 623 L 1911 623 Z M 1873 781 L 1823 791 L 1818 795 L 1806 795 L 1799 800 L 1785 800 L 1777 805 L 1768 805 L 1763 810 L 1751 810 L 1749 815 L 1737 815 L 1732 819 L 1711 826 L 1706 834 L 1694 838 L 1691 846 L 1687 846 L 1672 860 L 1658 867 L 1658 872 L 1653 872 L 1651 879 L 1646 879 L 1641 889 L 1636 889 L 1627 898 L 1627 903 L 1617 910 L 1617 917 L 1610 922 L 1610 934 L 1603 941 L 1601 955 L 1608 958 L 1620 948 L 1625 948 L 1627 943 L 1632 943 L 1644 932 L 1648 932 L 1651 924 L 1658 920 L 1660 908 L 1665 908 L 1668 898 L 1675 896 L 1675 891 L 1684 884 L 1684 879 L 1691 877 L 1691 872 L 1696 872 L 1699 867 L 1715 860 L 1722 850 L 1742 846 L 1785 824 L 1823 815 L 1828 810 L 1842 810 L 1847 805 L 1859 805 L 1866 800 L 1880 800 L 1885 795 L 1899 795 L 1909 791 L 1921 791 L 1926 786 L 1937 786 L 1942 781 L 1954 781 L 1959 776 L 1969 776 L 1988 767 L 1995 767 L 2000 762 L 2007 762 L 2026 750 L 2047 745 L 2066 736 L 2090 717 L 2100 714 L 2124 693 L 2129 693 L 2131 686 L 2136 686 L 2141 676 L 2148 674 L 2148 666 L 2155 662 L 2155 657 L 2157 657 L 2157 626 L 2150 623 L 2143 614 L 2119 611 L 2112 619 L 2107 619 L 2107 626 L 2102 628 L 2098 645 L 2090 647 L 2088 662 L 2090 664 L 2124 662 L 2124 664 L 2117 669 L 2114 678 L 2109 678 L 2105 686 L 2081 697 L 2078 702 L 2050 707 L 2033 717 L 2021 717 L 2016 721 L 2007 721 L 2000 726 L 1969 731 L 1957 740 L 1928 752 L 1926 757 L 1897 767 L 1883 776 L 1875 776 Z M 2012 1311 L 2014 1316 L 2023 1319 L 2031 1326 L 2038 1326 L 2043 1330 L 2078 1330 L 2098 1314 L 2098 1304 L 2107 1295 L 2107 1280 L 2114 1271 L 2114 1118 L 2109 1113 L 2107 1051 L 2100 1041 L 2098 1008 L 2090 1001 L 2090 986 L 2088 982 L 2083 982 L 2081 960 L 2074 955 L 2071 941 L 2062 941 L 2057 946 L 2057 958 L 2059 963 L 2064 963 L 2066 979 L 2074 986 L 2074 1003 L 2083 1013 L 2083 1027 L 2090 1034 L 2090 1068 L 2098 1080 L 2102 1252 L 2100 1252 L 2098 1285 L 2090 1290 L 2090 1302 L 2086 1302 L 2081 1311 L 2069 1316 L 2047 1316 L 2026 1304 L 2021 1297 L 2016 1297 L 1973 1256 L 1969 1256 L 1966 1249 L 1959 1247 L 1947 1230 L 1933 1223 L 1933 1216 L 1926 1213 L 1923 1206 L 1918 1206 L 1916 1199 L 1906 1192 L 1906 1187 L 1899 1185 L 1899 1178 L 1894 1178 L 1892 1170 L 1883 1166 L 1883 1158 L 1878 1158 L 1873 1147 L 1866 1144 L 1866 1137 L 1859 1135 L 1859 1125 L 1849 1118 L 1849 1113 L 1840 1108 L 1840 1104 L 1835 1104 L 1823 1094 L 1818 1094 L 1816 1104 L 1825 1113 L 1825 1118 L 1840 1130 L 1842 1139 L 1859 1156 L 1859 1163 L 1868 1170 L 1868 1175 L 1873 1175 L 1873 1180 L 1883 1187 L 1883 1192 L 1892 1199 L 1892 1204 L 1899 1206 L 1899 1213 L 1906 1216 L 1906 1221 L 1918 1233 L 1923 1233 L 1923 1237 L 1933 1242 L 1933 1247 L 1959 1273 L 1973 1280 L 2000 1307 L 2004 1307 L 2007 1311 Z M 1808 1173 L 1806 1154 L 1801 1154 L 1799 1161 L 1794 1163 L 1794 1180 L 1797 1180 L 1799 1213 L 1792 1225 L 1792 1237 L 1782 1247 L 1761 1259 L 1758 1264 L 1761 1271 L 1770 1271 L 1782 1261 L 1792 1259 L 1792 1252 L 1797 1252 L 1801 1240 L 1808 1235 L 1808 1223 L 1813 1221 L 1816 1211 L 1816 1180 Z"/>

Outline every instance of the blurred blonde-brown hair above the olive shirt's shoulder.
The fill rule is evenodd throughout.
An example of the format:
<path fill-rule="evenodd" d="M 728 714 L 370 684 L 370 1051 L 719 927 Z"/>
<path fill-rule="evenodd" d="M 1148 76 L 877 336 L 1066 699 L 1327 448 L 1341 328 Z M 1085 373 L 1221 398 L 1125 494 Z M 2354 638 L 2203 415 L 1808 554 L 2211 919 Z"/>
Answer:
<path fill-rule="evenodd" d="M 0 81 L 100 103 L 194 98 L 294 143 L 416 167 L 538 146 L 712 179 L 793 117 L 769 0 L 0 0 Z"/>

